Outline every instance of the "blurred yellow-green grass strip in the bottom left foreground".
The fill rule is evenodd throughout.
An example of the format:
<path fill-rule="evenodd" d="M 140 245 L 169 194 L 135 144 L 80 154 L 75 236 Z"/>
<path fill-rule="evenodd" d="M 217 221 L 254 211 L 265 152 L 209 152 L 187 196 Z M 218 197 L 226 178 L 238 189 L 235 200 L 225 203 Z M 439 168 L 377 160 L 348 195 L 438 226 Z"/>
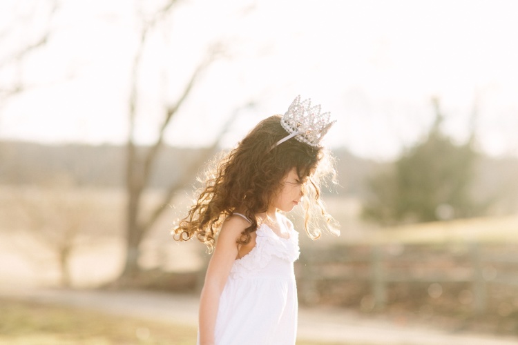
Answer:
<path fill-rule="evenodd" d="M 192 345 L 195 339 L 192 326 L 0 299 L 0 345 Z"/>

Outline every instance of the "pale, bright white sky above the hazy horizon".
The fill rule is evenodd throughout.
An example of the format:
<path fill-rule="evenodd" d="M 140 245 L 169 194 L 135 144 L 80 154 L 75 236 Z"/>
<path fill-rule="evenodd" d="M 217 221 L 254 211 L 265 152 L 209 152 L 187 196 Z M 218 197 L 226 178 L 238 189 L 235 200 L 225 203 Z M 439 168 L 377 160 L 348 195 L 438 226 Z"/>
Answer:
<path fill-rule="evenodd" d="M 146 1 L 144 12 L 163 2 Z M 0 62 L 45 28 L 45 3 L 0 3 L 0 33 L 8 32 L 0 34 Z M 0 137 L 124 143 L 139 2 L 61 3 L 48 45 L 21 66 L 0 65 L 0 86 L 13 74 L 31 85 L 0 105 Z M 454 139 L 466 139 L 476 100 L 481 150 L 518 155 L 518 1 L 179 3 L 144 54 L 142 143 L 153 138 L 163 104 L 175 99 L 207 47 L 220 42 L 226 56 L 173 119 L 169 144 L 206 146 L 239 111 L 225 140 L 232 146 L 300 94 L 338 119 L 329 146 L 387 159 L 422 137 L 437 96 Z M 250 101 L 256 106 L 244 108 Z"/>

